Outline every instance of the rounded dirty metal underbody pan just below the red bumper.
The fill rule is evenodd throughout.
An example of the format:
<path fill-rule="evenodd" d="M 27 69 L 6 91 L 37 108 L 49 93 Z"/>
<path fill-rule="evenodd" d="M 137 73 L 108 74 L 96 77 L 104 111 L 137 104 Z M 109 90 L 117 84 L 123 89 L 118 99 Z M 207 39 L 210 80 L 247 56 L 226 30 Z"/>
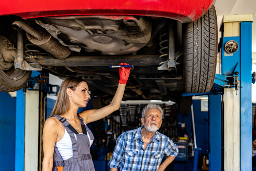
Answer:
<path fill-rule="evenodd" d="M 36 20 L 62 45 L 103 55 L 132 53 L 151 37 L 151 18 L 119 16 L 50 17 Z M 80 50 L 74 50 L 80 51 Z"/>

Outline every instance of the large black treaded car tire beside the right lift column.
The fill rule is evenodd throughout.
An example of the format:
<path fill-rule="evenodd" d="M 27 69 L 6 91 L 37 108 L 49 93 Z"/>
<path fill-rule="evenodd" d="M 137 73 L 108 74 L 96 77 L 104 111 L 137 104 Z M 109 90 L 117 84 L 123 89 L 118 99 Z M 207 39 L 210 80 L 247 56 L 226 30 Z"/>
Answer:
<path fill-rule="evenodd" d="M 214 6 L 184 29 L 183 87 L 188 93 L 211 90 L 215 78 L 218 48 Z"/>

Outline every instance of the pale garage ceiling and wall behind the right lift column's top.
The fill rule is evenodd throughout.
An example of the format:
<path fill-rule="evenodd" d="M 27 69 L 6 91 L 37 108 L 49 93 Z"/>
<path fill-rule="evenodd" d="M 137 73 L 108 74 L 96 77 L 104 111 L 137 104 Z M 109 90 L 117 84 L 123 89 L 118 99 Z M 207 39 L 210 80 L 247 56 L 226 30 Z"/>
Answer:
<path fill-rule="evenodd" d="M 252 14 L 252 63 L 256 64 L 256 1 L 255 0 L 215 0 L 218 29 L 223 15 Z M 221 32 L 219 32 L 219 36 Z"/>

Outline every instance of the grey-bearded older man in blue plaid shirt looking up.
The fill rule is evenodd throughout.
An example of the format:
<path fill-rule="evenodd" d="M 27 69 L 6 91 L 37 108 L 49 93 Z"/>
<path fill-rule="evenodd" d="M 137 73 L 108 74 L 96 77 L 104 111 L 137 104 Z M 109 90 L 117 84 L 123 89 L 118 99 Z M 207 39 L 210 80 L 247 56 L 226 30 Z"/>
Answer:
<path fill-rule="evenodd" d="M 177 145 L 157 132 L 162 124 L 163 110 L 159 105 L 148 104 L 143 108 L 142 127 L 126 131 L 117 139 L 109 162 L 110 171 L 164 170 L 178 155 Z M 163 156 L 166 159 L 161 163 Z M 160 164 L 161 163 L 161 164 Z"/>

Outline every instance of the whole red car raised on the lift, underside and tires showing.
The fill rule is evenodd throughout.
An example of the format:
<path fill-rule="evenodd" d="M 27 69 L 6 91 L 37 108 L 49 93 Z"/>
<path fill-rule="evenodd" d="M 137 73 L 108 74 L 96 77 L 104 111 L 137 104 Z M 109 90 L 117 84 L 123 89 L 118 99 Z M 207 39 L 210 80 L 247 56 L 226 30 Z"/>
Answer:
<path fill-rule="evenodd" d="M 4 1 L 0 91 L 23 88 L 32 71 L 87 81 L 94 108 L 110 102 L 118 69 L 133 65 L 123 100 L 180 101 L 208 92 L 217 62 L 213 0 Z"/>

